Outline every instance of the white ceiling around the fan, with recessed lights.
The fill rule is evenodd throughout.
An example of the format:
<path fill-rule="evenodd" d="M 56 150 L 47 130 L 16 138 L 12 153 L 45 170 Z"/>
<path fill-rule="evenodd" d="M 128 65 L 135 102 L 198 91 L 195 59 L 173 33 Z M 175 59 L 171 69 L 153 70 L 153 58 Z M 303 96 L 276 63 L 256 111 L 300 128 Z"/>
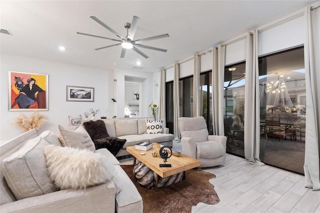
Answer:
<path fill-rule="evenodd" d="M 131 68 L 140 61 L 142 71 L 154 72 L 205 51 L 316 2 L 314 0 L 37 0 L 0 1 L 0 26 L 13 36 L 0 34 L 1 53 L 25 55 L 104 69 Z M 94 15 L 122 36 L 124 22 L 140 18 L 134 39 L 168 33 L 170 37 L 141 44 L 167 49 L 139 48 L 120 58 L 121 47 L 97 47 L 116 41 L 76 34 L 76 31 L 117 38 L 92 20 Z M 60 51 L 58 46 L 65 46 Z M 116 64 L 116 65 L 115 65 Z"/>

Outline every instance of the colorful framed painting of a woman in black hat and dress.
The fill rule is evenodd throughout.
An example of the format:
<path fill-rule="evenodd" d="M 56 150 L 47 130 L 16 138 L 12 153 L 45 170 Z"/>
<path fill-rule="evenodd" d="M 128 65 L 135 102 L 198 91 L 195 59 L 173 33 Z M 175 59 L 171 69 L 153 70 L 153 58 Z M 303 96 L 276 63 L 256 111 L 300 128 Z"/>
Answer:
<path fill-rule="evenodd" d="M 9 111 L 48 110 L 48 75 L 9 71 Z"/>

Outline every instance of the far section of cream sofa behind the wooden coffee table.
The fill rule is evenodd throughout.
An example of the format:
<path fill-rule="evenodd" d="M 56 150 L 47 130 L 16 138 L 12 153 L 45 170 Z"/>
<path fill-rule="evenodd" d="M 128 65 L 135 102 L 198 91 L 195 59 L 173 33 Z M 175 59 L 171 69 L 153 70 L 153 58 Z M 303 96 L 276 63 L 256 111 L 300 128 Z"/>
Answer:
<path fill-rule="evenodd" d="M 172 140 L 174 135 L 168 133 L 168 128 L 163 128 L 164 133 L 146 134 L 145 119 L 153 119 L 152 117 L 146 118 L 118 118 L 118 119 L 102 119 L 105 123 L 106 130 L 110 137 L 118 137 L 126 139 L 126 142 L 116 154 L 118 156 L 128 155 L 126 151 L 127 146 L 135 145 L 141 141 L 157 142 L 162 145 L 172 147 Z M 86 122 L 88 120 L 82 120 Z"/>

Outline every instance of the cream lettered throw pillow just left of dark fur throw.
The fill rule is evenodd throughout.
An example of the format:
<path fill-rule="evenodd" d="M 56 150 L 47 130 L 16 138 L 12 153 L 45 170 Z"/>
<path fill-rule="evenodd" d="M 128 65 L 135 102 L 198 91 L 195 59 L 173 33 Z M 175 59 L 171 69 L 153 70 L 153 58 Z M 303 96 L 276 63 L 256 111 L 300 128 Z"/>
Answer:
<path fill-rule="evenodd" d="M 69 130 L 58 125 L 58 137 L 62 146 L 86 148 L 93 152 L 95 151 L 94 143 L 90 135 L 80 125 L 74 130 Z"/>

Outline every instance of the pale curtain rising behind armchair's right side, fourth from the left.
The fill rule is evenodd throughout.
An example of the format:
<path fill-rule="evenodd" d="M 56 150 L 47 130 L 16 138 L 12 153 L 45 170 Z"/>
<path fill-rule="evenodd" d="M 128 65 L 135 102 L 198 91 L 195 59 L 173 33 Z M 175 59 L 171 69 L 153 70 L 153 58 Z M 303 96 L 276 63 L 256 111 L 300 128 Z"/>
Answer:
<path fill-rule="evenodd" d="M 212 67 L 212 125 L 213 134 L 224 135 L 223 126 L 223 85 L 225 46 L 213 47 Z"/>

